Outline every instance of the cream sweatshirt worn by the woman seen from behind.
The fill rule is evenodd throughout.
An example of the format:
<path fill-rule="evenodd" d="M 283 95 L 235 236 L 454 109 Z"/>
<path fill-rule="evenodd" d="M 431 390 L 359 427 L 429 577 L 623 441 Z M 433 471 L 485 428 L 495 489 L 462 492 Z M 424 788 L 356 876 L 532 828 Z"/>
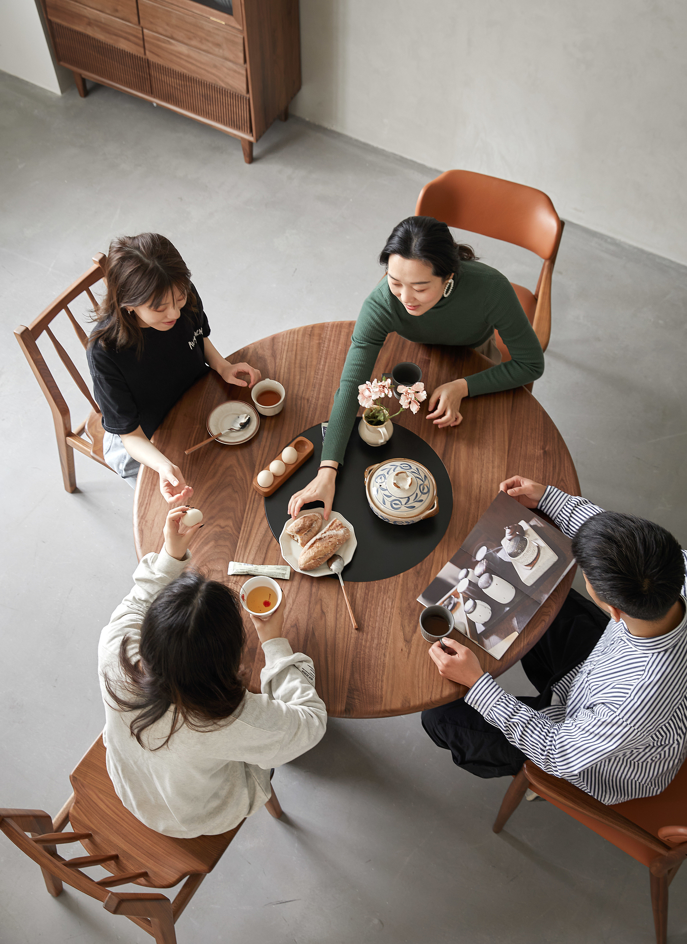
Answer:
<path fill-rule="evenodd" d="M 314 747 L 327 728 L 327 710 L 315 691 L 312 660 L 293 653 L 288 640 L 262 646 L 265 667 L 261 695 L 246 692 L 237 711 L 215 729 L 191 731 L 185 725 L 159 750 L 145 750 L 129 731 L 135 713 L 111 704 L 103 672 L 121 679 L 119 649 L 128 635 L 127 654 L 139 658 L 141 624 L 150 603 L 190 560 L 176 561 L 162 549 L 146 554 L 134 573 L 135 585 L 100 634 L 98 672 L 105 703 L 109 777 L 117 796 L 146 826 L 189 839 L 225 833 L 270 798 L 270 768 L 292 761 Z M 172 709 L 142 734 L 146 748 L 164 742 Z"/>

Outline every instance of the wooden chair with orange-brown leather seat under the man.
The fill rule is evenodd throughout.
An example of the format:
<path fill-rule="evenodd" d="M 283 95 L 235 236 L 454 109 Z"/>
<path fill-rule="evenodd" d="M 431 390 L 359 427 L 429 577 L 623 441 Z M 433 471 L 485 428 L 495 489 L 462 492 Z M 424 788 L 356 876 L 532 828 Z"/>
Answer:
<path fill-rule="evenodd" d="M 649 869 L 651 905 L 657 944 L 665 944 L 668 926 L 668 885 L 687 856 L 687 762 L 675 779 L 655 797 L 606 806 L 574 784 L 545 773 L 532 761 L 513 778 L 494 821 L 500 833 L 528 786 L 563 813 L 608 839 Z"/>

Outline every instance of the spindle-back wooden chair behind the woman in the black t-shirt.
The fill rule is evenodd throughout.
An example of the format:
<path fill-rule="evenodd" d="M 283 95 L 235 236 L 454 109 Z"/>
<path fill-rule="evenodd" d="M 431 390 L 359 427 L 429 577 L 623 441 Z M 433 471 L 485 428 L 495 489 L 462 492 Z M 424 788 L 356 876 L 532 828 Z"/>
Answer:
<path fill-rule="evenodd" d="M 87 272 L 84 272 L 81 278 L 77 278 L 51 305 L 48 305 L 38 318 L 31 322 L 28 328 L 26 328 L 25 325 L 20 325 L 14 332 L 19 346 L 24 351 L 25 358 L 29 362 L 31 370 L 34 372 L 42 392 L 45 395 L 45 399 L 48 401 L 50 409 L 52 410 L 55 434 L 58 439 L 59 462 L 62 466 L 62 478 L 64 480 L 64 487 L 68 492 L 74 492 L 76 489 L 74 468 L 75 449 L 78 449 L 78 451 L 82 452 L 85 456 L 90 456 L 96 463 L 100 463 L 106 468 L 109 468 L 109 465 L 103 458 L 104 430 L 101 422 L 102 413 L 100 413 L 100 408 L 93 399 L 86 381 L 79 374 L 69 354 L 64 347 L 59 344 L 58 339 L 53 334 L 51 325 L 57 315 L 59 315 L 60 312 L 64 312 L 71 321 L 72 327 L 75 329 L 76 337 L 84 348 L 86 348 L 88 344 L 86 332 L 76 321 L 69 306 L 82 294 L 87 295 L 91 305 L 93 307 L 95 306 L 96 302 L 91 292 L 91 286 L 104 277 L 105 270 L 101 262 L 105 261 L 106 258 L 107 257 L 102 252 L 94 256 L 91 268 Z M 75 430 L 72 430 L 72 420 L 67 401 L 59 392 L 58 384 L 50 373 L 37 344 L 42 333 L 47 334 L 50 338 L 55 350 L 58 352 L 59 360 L 67 368 L 76 386 L 91 404 L 92 409 L 88 418 L 76 427 Z M 88 376 L 88 368 L 86 370 L 86 376 Z M 84 430 L 86 430 L 91 437 L 90 441 L 83 437 L 82 433 Z"/>

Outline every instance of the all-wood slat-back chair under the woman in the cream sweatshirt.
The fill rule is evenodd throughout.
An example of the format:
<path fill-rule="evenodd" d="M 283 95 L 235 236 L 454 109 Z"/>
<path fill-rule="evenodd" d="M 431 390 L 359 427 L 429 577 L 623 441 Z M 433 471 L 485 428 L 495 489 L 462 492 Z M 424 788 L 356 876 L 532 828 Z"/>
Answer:
<path fill-rule="evenodd" d="M 245 820 L 228 833 L 194 839 L 175 839 L 148 829 L 114 792 L 105 766 L 102 736 L 79 761 L 70 780 L 74 793 L 55 819 L 43 810 L 0 809 L 0 829 L 39 864 L 45 885 L 54 897 L 66 882 L 103 902 L 113 915 L 126 915 L 158 944 L 176 944 L 176 919 Z M 274 790 L 265 805 L 273 817 L 281 817 Z M 74 832 L 63 832 L 68 822 Z M 89 854 L 63 859 L 57 847 L 75 842 L 80 842 Z M 89 866 L 102 866 L 111 874 L 95 881 L 82 871 Z M 171 888 L 184 878 L 174 902 L 159 893 L 109 891 L 110 887 L 129 883 Z"/>

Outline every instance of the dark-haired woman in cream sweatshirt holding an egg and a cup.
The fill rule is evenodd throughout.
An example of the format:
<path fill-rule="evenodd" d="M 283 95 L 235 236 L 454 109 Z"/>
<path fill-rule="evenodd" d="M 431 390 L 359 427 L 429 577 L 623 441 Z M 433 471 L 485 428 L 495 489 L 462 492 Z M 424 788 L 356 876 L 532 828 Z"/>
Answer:
<path fill-rule="evenodd" d="M 109 777 L 126 809 L 158 833 L 224 833 L 271 795 L 270 768 L 310 750 L 327 727 L 312 660 L 281 635 L 284 607 L 253 620 L 265 655 L 260 695 L 238 671 L 236 595 L 191 569 L 188 509 L 167 515 L 164 547 L 100 636 Z"/>

